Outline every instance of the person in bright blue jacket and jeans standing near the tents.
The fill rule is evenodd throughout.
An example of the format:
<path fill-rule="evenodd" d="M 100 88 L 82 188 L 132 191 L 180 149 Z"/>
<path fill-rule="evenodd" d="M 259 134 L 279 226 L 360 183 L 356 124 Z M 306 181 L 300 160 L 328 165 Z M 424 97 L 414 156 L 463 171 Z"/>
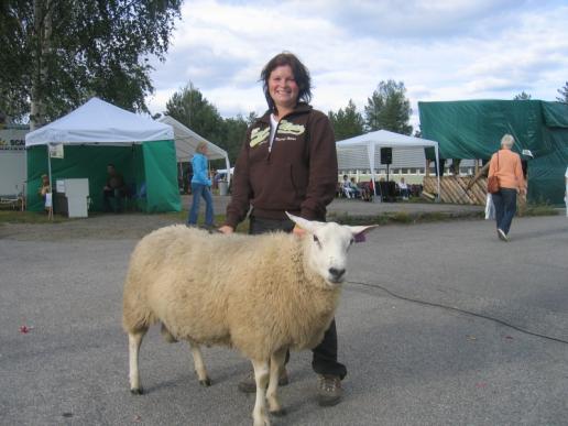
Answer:
<path fill-rule="evenodd" d="M 199 215 L 199 201 L 203 197 L 205 199 L 205 226 L 206 228 L 214 227 L 214 209 L 211 198 L 211 181 L 207 177 L 207 143 L 199 142 L 192 159 L 193 176 L 192 176 L 192 208 L 187 218 L 187 225 L 197 225 L 197 216 Z"/>

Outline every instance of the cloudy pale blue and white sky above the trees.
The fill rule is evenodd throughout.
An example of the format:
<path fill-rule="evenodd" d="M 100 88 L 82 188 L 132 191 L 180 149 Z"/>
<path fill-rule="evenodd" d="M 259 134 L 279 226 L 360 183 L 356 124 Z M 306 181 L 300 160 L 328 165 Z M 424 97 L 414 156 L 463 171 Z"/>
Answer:
<path fill-rule="evenodd" d="M 556 100 L 568 81 L 568 0 L 186 0 L 166 61 L 155 61 L 163 112 L 187 84 L 225 118 L 261 114 L 264 65 L 288 51 L 312 75 L 314 108 L 363 112 L 380 81 L 418 101 Z"/>

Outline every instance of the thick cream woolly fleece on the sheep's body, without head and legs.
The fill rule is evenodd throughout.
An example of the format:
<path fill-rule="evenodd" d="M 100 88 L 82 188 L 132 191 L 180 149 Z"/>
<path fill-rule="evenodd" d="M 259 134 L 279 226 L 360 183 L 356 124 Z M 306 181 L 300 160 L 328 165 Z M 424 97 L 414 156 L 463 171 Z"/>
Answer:
<path fill-rule="evenodd" d="M 123 328 L 144 332 L 161 321 L 175 339 L 234 347 L 250 359 L 314 348 L 334 317 L 340 286 L 310 270 L 305 240 L 159 229 L 131 256 Z"/>

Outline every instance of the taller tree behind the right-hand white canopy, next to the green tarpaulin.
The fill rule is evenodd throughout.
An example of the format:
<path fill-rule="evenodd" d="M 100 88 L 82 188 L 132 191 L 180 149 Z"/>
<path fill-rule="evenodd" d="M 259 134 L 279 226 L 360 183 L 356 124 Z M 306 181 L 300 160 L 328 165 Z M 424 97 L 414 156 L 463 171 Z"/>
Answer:
<path fill-rule="evenodd" d="M 364 107 L 365 127 L 368 131 L 390 130 L 411 134 L 411 101 L 406 99 L 404 83 L 394 80 L 381 81 Z"/>

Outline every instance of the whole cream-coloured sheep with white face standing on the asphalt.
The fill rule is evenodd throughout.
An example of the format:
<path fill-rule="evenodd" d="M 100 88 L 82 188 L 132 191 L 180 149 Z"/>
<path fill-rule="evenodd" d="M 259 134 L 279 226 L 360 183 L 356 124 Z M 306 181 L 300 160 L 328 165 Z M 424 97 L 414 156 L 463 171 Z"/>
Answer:
<path fill-rule="evenodd" d="M 374 228 L 288 216 L 306 236 L 225 236 L 170 226 L 138 243 L 124 282 L 122 320 L 133 394 L 143 392 L 142 338 L 160 321 L 167 341 L 189 342 L 201 385 L 210 384 L 201 345 L 233 347 L 251 360 L 254 426 L 270 425 L 266 400 L 271 414 L 284 414 L 276 391 L 286 351 L 323 340 L 346 280 L 348 249 Z"/>

